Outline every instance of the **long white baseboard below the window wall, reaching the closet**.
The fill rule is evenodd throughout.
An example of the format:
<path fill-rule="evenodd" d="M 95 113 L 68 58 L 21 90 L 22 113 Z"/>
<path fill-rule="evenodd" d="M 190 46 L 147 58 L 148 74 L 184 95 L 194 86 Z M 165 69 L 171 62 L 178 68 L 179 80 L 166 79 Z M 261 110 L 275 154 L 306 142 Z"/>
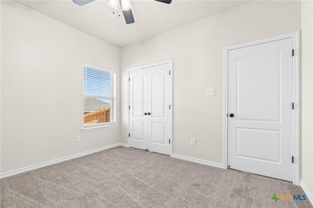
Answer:
<path fill-rule="evenodd" d="M 0 178 L 5 178 L 5 177 L 16 175 L 16 174 L 19 174 L 19 173 L 22 173 L 22 172 L 26 172 L 26 171 L 29 171 L 29 170 L 34 170 L 34 169 L 37 169 L 37 168 L 40 168 L 40 167 L 45 167 L 45 166 L 50 166 L 50 165 L 53 165 L 53 164 L 56 164 L 56 163 L 61 163 L 63 161 L 67 161 L 67 160 L 71 160 L 71 159 L 74 159 L 74 158 L 82 157 L 82 156 L 89 155 L 89 154 L 92 154 L 92 153 L 95 153 L 95 152 L 99 152 L 99 151 L 102 151 L 102 150 L 105 150 L 105 149 L 110 149 L 110 148 L 113 148 L 113 147 L 116 147 L 116 146 L 128 147 L 126 144 L 123 144 L 123 143 L 117 143 L 117 144 L 114 144 L 114 145 L 103 146 L 103 147 L 100 147 L 100 148 L 97 148 L 97 149 L 92 149 L 92 150 L 89 150 L 89 151 L 86 151 L 86 152 L 70 155 L 70 156 L 67 156 L 67 157 L 60 158 L 60 159 L 51 160 L 51 161 L 48 161 L 48 162 L 45 162 L 45 163 L 40 163 L 40 164 L 37 164 L 37 165 L 34 165 L 34 166 L 23 167 L 23 168 L 20 168 L 20 169 L 17 169 L 17 170 L 12 170 L 12 171 L 9 171 L 9 172 L 1 173 L 0 174 Z"/>

